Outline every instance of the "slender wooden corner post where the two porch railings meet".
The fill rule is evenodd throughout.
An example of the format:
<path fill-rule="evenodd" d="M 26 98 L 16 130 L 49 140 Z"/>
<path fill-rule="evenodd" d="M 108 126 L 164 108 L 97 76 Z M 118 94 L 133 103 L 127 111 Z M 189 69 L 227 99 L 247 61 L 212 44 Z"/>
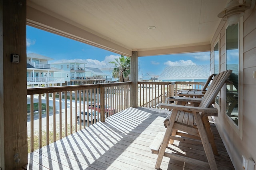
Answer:
<path fill-rule="evenodd" d="M 130 106 L 138 107 L 138 51 L 132 51 L 131 56 L 131 91 L 130 91 Z"/>

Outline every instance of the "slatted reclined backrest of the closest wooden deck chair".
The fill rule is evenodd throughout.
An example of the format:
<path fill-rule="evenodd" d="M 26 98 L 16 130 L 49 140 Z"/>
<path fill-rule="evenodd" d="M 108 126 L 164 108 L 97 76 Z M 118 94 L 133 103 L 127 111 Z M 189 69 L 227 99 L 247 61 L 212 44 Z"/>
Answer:
<path fill-rule="evenodd" d="M 212 104 L 231 72 L 232 70 L 226 70 L 214 76 L 214 79 L 210 84 L 210 87 L 204 94 L 204 97 L 199 107 L 209 107 Z"/>

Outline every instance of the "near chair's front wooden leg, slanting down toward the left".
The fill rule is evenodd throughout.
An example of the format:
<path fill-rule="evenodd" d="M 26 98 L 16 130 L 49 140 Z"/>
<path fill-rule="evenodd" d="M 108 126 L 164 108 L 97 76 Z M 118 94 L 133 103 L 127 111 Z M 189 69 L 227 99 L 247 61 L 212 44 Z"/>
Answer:
<path fill-rule="evenodd" d="M 169 144 L 170 135 L 172 134 L 172 128 L 174 126 L 174 122 L 175 122 L 177 113 L 178 113 L 178 110 L 172 110 L 172 115 L 170 117 L 168 126 L 166 128 L 166 131 L 165 131 L 165 134 L 164 134 L 164 140 L 162 142 L 162 145 L 160 147 L 158 157 L 157 157 L 157 160 L 156 160 L 156 166 L 155 166 L 156 169 L 159 169 L 160 166 L 161 166 L 161 163 L 162 163 L 162 160 L 163 160 L 163 157 L 164 157 L 165 149 Z"/>

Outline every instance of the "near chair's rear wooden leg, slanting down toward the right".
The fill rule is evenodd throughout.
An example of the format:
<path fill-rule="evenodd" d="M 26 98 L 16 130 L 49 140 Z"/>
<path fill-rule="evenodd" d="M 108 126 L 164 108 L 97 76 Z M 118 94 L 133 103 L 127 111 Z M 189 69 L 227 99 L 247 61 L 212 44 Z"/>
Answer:
<path fill-rule="evenodd" d="M 197 112 L 193 112 L 193 114 L 194 114 L 194 118 L 196 120 L 196 125 L 197 125 L 198 132 L 199 132 L 201 140 L 202 140 L 202 144 L 204 146 L 204 151 L 206 153 L 206 157 L 207 157 L 208 163 L 210 165 L 210 169 L 211 170 L 218 170 L 217 165 L 216 165 L 216 161 L 215 161 L 215 158 L 214 158 L 214 154 L 213 154 L 213 151 L 212 151 L 212 146 L 211 146 L 211 144 L 208 140 L 208 135 L 207 135 L 207 132 L 206 132 L 206 130 L 204 128 L 204 125 L 202 123 L 202 119 L 201 119 L 200 115 Z"/>

